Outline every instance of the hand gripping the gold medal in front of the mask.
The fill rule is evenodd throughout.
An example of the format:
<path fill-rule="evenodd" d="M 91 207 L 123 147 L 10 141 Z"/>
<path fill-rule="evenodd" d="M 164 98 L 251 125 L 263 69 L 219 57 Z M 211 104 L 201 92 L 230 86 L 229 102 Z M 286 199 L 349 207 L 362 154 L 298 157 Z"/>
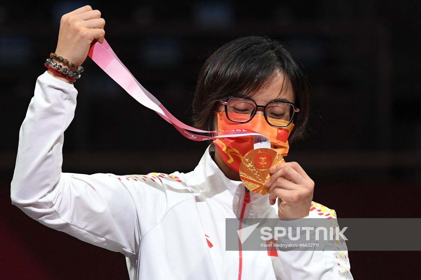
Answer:
<path fill-rule="evenodd" d="M 282 162 L 270 169 L 272 173 L 266 182 L 269 188 L 269 203 L 278 198 L 278 216 L 284 218 L 304 218 L 309 215 L 313 199 L 314 181 L 295 162 Z"/>

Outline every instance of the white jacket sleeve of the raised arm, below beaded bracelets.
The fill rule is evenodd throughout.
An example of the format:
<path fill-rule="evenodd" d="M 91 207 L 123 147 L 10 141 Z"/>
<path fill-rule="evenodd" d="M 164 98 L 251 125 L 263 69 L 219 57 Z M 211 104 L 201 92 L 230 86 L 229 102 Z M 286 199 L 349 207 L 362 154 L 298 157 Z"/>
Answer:
<path fill-rule="evenodd" d="M 114 174 L 61 172 L 64 130 L 75 114 L 74 85 L 41 74 L 19 130 L 11 201 L 43 225 L 132 256 L 139 223 L 128 183 Z"/>

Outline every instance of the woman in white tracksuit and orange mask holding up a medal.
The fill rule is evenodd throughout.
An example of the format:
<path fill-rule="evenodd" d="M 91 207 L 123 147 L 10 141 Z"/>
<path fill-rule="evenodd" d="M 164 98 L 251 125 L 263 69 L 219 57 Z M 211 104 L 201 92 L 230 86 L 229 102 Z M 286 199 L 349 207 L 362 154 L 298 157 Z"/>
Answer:
<path fill-rule="evenodd" d="M 65 14 L 56 53 L 80 66 L 93 40 L 104 40 L 104 24 L 101 13 L 89 5 Z M 275 165 L 266 183 L 269 195 L 249 192 L 238 164 L 241 149 L 250 150 L 250 136 L 211 141 L 189 173 L 61 172 L 64 130 L 73 119 L 77 93 L 73 83 L 53 71 L 37 79 L 19 132 L 11 182 L 12 203 L 27 215 L 121 252 L 130 279 L 352 279 L 346 251 L 225 249 L 226 218 L 320 217 L 320 212 L 324 218 L 336 217 L 334 210 L 312 202 L 314 182 L 296 162 Z M 299 114 L 291 113 L 284 125 L 274 126 L 280 106 L 299 109 Z M 237 111 L 228 114 L 233 109 Z M 237 114 L 250 119 L 231 119 Z M 194 101 L 197 128 L 215 131 L 237 125 L 263 135 L 279 129 L 284 138 L 286 129 L 291 141 L 302 137 L 307 115 L 305 77 L 278 42 L 264 37 L 234 40 L 216 50 L 200 71 Z M 288 141 L 273 138 L 271 148 L 285 156 Z"/>

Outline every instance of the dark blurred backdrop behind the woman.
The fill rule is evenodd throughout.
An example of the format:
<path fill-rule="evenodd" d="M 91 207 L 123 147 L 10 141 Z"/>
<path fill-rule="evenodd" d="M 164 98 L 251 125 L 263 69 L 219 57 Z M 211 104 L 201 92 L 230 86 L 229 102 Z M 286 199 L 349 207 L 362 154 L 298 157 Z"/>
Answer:
<path fill-rule="evenodd" d="M 84 5 L 101 11 L 105 38 L 139 82 L 190 122 L 197 75 L 224 43 L 245 35 L 287 42 L 304 65 L 312 113 L 290 145 L 338 217 L 421 217 L 420 6 L 396 1 L 0 4 L 2 94 L 1 278 L 128 279 L 122 254 L 40 225 L 11 205 L 19 128 L 35 82 L 56 50 L 59 21 Z M 90 58 L 75 82 L 75 118 L 62 171 L 189 172 L 207 143 L 188 140 L 136 102 Z M 410 279 L 419 252 L 349 251 L 355 279 Z"/>

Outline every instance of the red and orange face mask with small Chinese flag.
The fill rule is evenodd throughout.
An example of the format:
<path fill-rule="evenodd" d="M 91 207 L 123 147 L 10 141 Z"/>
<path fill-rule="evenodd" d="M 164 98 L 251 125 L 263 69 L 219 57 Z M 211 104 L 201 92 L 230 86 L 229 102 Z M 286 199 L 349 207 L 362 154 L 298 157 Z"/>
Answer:
<path fill-rule="evenodd" d="M 273 150 L 277 151 L 281 156 L 288 154 L 288 136 L 290 135 L 294 124 L 291 123 L 287 127 L 273 127 L 266 122 L 263 115 L 256 114 L 249 122 L 238 123 L 232 122 L 227 117 L 225 112 L 216 112 L 218 120 L 217 130 L 233 130 L 233 129 L 250 129 L 261 135 L 266 136 L 270 141 L 270 146 Z M 230 113 L 239 114 L 239 113 Z M 277 125 L 286 125 L 288 121 L 280 119 L 271 119 L 271 122 Z M 229 134 L 231 132 L 218 132 L 218 135 Z M 240 173 L 240 162 L 242 158 L 251 150 L 254 150 L 254 137 L 253 135 L 243 137 L 227 137 L 217 138 L 213 140 L 215 147 L 218 149 L 219 154 L 229 166 L 236 173 Z"/>

